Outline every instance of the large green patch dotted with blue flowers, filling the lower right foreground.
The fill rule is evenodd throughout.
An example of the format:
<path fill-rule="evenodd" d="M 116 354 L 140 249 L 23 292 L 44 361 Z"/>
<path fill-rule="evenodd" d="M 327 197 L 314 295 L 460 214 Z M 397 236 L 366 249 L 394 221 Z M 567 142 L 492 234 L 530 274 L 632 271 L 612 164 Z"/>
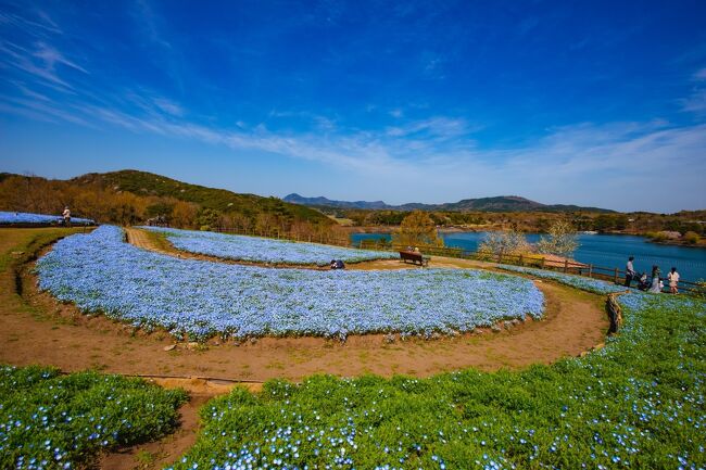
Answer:
<path fill-rule="evenodd" d="M 706 468 L 706 304 L 619 298 L 621 333 L 580 359 L 236 390 L 171 469 Z"/>

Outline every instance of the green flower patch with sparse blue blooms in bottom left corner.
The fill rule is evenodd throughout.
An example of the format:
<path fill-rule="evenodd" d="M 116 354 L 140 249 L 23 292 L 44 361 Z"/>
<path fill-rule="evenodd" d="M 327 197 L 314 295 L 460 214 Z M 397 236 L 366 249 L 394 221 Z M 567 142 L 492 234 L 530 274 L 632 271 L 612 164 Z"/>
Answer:
<path fill-rule="evenodd" d="M 186 399 L 139 379 L 0 366 L 0 468 L 86 468 L 102 449 L 169 432 Z"/>

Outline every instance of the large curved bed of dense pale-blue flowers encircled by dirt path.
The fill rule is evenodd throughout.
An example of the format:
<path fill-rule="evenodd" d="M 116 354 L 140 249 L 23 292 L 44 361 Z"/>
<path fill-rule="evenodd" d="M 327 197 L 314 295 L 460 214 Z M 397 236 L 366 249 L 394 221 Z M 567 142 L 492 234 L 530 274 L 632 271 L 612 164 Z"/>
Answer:
<path fill-rule="evenodd" d="M 85 312 L 190 338 L 470 331 L 541 317 L 529 280 L 461 269 L 316 271 L 177 259 L 117 227 L 68 237 L 37 263 L 39 285 Z"/>

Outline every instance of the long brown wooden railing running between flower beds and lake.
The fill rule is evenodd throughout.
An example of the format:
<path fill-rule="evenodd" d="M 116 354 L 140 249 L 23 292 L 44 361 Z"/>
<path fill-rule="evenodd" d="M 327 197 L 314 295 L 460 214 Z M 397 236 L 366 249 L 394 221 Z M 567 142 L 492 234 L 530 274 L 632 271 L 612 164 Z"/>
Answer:
<path fill-rule="evenodd" d="M 267 238 L 277 238 L 280 240 L 290 240 L 299 242 L 311 242 L 311 243 L 323 243 L 331 244 L 337 246 L 346 246 L 346 247 L 356 247 L 362 250 L 378 250 L 378 251 L 404 251 L 408 246 L 391 243 L 389 241 L 378 240 L 361 240 L 358 243 L 352 243 L 350 237 L 331 233 L 302 233 L 302 232 L 291 232 L 287 230 L 280 230 L 278 228 L 267 229 L 267 230 L 257 230 L 250 228 L 237 228 L 237 227 L 220 227 L 212 229 L 214 231 L 223 233 L 235 233 L 235 234 L 245 234 L 251 237 L 267 237 Z M 585 276 L 589 278 L 601 279 L 605 281 L 612 281 L 616 284 L 621 284 L 625 281 L 626 271 L 616 267 L 605 267 L 596 266 L 593 264 L 577 263 L 569 259 L 553 259 L 543 257 L 542 255 L 514 255 L 514 254 L 483 254 L 479 252 L 474 252 L 461 247 L 447 247 L 447 246 L 434 246 L 434 245 L 418 245 L 417 246 L 421 253 L 425 255 L 434 255 L 434 256 L 447 256 L 462 259 L 474 259 L 474 261 L 484 261 L 499 264 L 508 264 L 516 266 L 526 266 L 539 269 L 549 269 L 555 271 L 562 271 L 566 274 L 573 274 L 579 276 Z M 666 281 L 666 279 L 665 279 Z M 706 287 L 698 282 L 692 282 L 686 280 L 679 280 L 679 291 L 692 294 L 705 294 Z M 669 292 L 669 285 L 665 282 L 665 288 L 663 292 Z"/>

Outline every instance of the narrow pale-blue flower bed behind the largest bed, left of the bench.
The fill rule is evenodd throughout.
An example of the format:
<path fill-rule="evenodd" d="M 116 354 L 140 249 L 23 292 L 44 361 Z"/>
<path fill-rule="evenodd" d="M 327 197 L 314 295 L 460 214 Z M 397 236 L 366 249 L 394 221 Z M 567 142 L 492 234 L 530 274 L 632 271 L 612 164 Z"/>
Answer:
<path fill-rule="evenodd" d="M 179 250 L 226 259 L 325 266 L 331 259 L 342 259 L 345 263 L 358 263 L 399 257 L 396 253 L 391 252 L 354 250 L 261 237 L 244 237 L 160 227 L 142 228 L 165 233 L 167 240 Z"/>

